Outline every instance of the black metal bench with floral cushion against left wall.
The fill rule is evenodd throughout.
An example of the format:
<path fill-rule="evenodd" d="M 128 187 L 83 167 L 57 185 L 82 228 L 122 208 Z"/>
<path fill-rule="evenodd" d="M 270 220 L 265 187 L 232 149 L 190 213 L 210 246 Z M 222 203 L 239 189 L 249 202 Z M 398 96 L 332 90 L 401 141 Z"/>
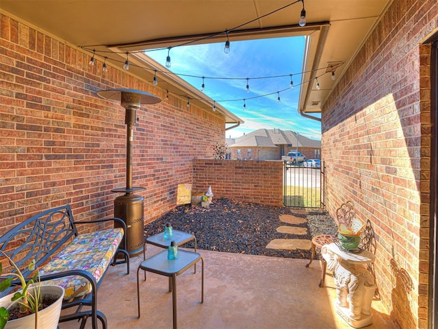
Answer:
<path fill-rule="evenodd" d="M 101 229 L 108 221 L 114 223 L 114 228 Z M 77 226 L 82 229 L 88 225 L 94 225 L 90 227 L 90 230 L 94 229 L 92 232 L 78 233 Z M 60 284 L 66 289 L 62 303 L 62 309 L 66 311 L 60 322 L 81 320 L 80 328 L 84 328 L 91 317 L 92 328 L 98 328 L 98 319 L 103 328 L 107 328 L 105 315 L 97 310 L 97 290 L 110 265 L 126 263 L 129 274 L 126 232 L 125 222 L 118 218 L 75 221 L 70 206 L 66 205 L 19 223 L 1 236 L 0 250 L 26 277 L 31 277 L 27 265 L 35 260 L 43 284 Z M 123 247 L 120 247 L 122 243 Z"/>

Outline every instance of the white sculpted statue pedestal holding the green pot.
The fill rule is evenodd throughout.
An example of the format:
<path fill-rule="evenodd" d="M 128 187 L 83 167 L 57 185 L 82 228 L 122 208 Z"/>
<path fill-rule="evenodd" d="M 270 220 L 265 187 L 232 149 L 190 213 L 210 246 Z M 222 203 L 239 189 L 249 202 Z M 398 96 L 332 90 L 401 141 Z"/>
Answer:
<path fill-rule="evenodd" d="M 333 271 L 337 293 L 336 311 L 353 328 L 372 324 L 371 302 L 376 285 L 365 267 L 374 263 L 372 252 L 346 252 L 336 243 L 323 245 L 321 254 Z"/>

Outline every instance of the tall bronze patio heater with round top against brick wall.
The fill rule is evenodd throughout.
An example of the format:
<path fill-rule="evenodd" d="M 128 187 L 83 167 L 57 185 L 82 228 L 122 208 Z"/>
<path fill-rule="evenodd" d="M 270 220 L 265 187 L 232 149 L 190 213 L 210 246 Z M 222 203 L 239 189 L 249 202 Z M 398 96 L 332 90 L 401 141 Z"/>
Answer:
<path fill-rule="evenodd" d="M 132 186 L 133 127 L 136 125 L 136 110 L 140 108 L 140 104 L 155 104 L 159 103 L 161 99 L 144 91 L 123 88 L 101 90 L 97 95 L 105 99 L 120 101 L 120 105 L 126 109 L 126 187 L 114 188 L 111 191 L 125 193 L 125 195 L 114 199 L 114 217 L 125 221 L 127 225 L 127 252 L 130 256 L 135 256 L 142 252 L 144 243 L 144 197 L 134 193 L 145 191 L 146 188 Z"/>

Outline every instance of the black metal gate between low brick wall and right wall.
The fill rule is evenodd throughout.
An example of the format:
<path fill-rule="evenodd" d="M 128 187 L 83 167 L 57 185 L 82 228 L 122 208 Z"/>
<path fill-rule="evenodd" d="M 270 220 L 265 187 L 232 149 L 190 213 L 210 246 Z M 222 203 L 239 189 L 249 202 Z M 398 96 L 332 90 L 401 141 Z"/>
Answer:
<path fill-rule="evenodd" d="M 309 163 L 306 163 L 308 166 Z M 283 204 L 287 207 L 324 208 L 324 162 L 320 167 L 283 163 Z"/>

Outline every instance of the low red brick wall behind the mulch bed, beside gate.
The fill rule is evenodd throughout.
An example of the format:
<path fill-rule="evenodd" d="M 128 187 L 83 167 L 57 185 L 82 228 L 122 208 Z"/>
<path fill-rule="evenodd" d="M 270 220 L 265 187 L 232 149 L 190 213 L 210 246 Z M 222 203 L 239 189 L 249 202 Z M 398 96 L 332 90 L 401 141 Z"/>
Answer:
<path fill-rule="evenodd" d="M 214 197 L 272 206 L 283 205 L 283 162 L 194 160 L 193 189 Z"/>

